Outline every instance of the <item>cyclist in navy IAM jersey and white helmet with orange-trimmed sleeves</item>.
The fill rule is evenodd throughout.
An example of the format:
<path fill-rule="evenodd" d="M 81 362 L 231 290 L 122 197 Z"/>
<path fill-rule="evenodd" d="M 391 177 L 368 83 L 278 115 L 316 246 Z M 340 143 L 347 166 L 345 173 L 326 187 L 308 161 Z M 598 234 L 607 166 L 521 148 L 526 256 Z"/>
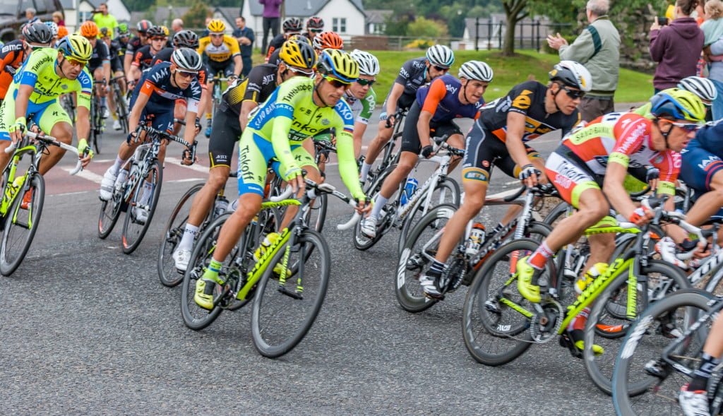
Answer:
<path fill-rule="evenodd" d="M 103 181 L 100 182 L 100 199 L 109 200 L 113 195 L 116 179 L 118 184 L 124 182 L 127 175 L 125 169 L 120 175 L 121 166 L 130 158 L 139 143 L 136 129 L 139 122 L 150 119 L 151 127 L 164 132 L 173 132 L 174 108 L 178 98 L 186 98 L 188 110 L 186 113 L 187 125 L 192 125 L 196 118 L 198 103 L 201 99 L 201 86 L 197 80 L 199 69 L 202 67 L 201 57 L 196 51 L 190 48 L 179 48 L 171 55 L 170 62 L 161 62 L 155 67 L 143 72 L 138 85 L 133 90 L 131 98 L 128 126 L 130 134 L 127 143 L 121 143 L 118 156 L 113 166 L 109 167 L 103 174 Z M 194 143 L 194 129 L 184 130 L 184 139 L 188 143 Z M 187 149 L 189 150 L 189 149 Z M 191 164 L 188 160 L 187 150 L 184 151 L 184 163 Z M 163 163 L 165 149 L 161 150 L 159 159 Z M 150 198 L 152 192 L 150 182 L 144 184 L 142 200 Z M 134 207 L 134 216 L 137 221 L 144 223 L 148 218 L 145 209 Z"/>

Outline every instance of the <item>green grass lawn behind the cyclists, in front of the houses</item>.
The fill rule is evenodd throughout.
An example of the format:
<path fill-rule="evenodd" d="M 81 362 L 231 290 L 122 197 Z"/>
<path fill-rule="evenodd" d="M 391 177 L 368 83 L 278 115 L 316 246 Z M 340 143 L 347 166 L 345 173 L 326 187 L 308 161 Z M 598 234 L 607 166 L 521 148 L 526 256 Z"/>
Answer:
<path fill-rule="evenodd" d="M 422 51 L 371 51 L 379 59 L 382 72 L 377 75 L 378 104 L 384 101 L 402 64 L 408 59 L 424 56 Z M 484 94 L 486 101 L 505 95 L 510 88 L 525 80 L 534 79 L 547 82 L 547 72 L 559 61 L 557 55 L 538 54 L 532 51 L 518 51 L 518 55 L 505 57 L 499 51 L 455 51 L 455 64 L 450 72 L 457 75 L 459 66 L 471 59 L 485 61 L 495 71 L 495 79 Z M 254 54 L 254 64 L 262 62 L 259 54 Z M 652 75 L 642 72 L 620 69 L 620 82 L 617 86 L 617 103 L 636 103 L 647 101 L 653 95 Z"/>

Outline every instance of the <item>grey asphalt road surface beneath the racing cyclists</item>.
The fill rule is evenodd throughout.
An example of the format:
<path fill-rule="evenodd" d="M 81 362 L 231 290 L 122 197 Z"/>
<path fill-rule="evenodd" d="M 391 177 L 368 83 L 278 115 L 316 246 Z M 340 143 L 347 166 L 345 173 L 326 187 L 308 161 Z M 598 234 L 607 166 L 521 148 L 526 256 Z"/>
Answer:
<path fill-rule="evenodd" d="M 33 247 L 13 276 L 0 278 L 0 414 L 612 414 L 583 362 L 555 341 L 501 368 L 475 362 L 461 334 L 464 287 L 424 313 L 402 310 L 393 292 L 395 232 L 355 250 L 351 232 L 333 227 L 350 215 L 338 201 L 324 232 L 333 253 L 328 294 L 294 351 L 278 360 L 258 355 L 250 308 L 189 330 L 180 287 L 162 286 L 155 265 L 166 218 L 205 178 L 208 156 L 181 167 L 180 148 L 169 148 L 176 160 L 166 161 L 153 224 L 140 248 L 124 255 L 120 221 L 108 239 L 96 233 L 98 181 L 121 135 L 110 131 L 104 140 L 80 177 L 64 171 L 70 158 L 48 174 Z M 533 145 L 547 153 L 556 141 Z M 203 156 L 208 140 L 200 143 Z M 340 184 L 335 166 L 328 171 Z M 517 186 L 500 172 L 492 181 L 493 190 Z M 498 213 L 489 212 L 494 225 Z"/>

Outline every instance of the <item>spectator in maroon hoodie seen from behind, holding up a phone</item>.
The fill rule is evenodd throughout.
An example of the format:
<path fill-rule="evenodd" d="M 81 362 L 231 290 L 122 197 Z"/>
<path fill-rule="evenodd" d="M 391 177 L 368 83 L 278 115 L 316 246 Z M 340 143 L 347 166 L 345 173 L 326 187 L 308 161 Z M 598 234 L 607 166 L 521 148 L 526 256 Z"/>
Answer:
<path fill-rule="evenodd" d="M 675 1 L 675 20 L 661 27 L 655 18 L 650 27 L 650 56 L 658 63 L 653 77 L 655 93 L 675 88 L 685 77 L 696 75 L 698 57 L 703 51 L 703 31 L 690 13 L 698 0 Z"/>

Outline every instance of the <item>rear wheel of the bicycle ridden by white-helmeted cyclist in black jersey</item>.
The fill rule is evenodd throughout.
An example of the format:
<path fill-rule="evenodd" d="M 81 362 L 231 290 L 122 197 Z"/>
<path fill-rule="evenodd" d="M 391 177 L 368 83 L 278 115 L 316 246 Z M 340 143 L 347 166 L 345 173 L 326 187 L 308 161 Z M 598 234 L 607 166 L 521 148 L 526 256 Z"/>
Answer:
<path fill-rule="evenodd" d="M 432 264 L 443 229 L 457 209 L 452 204 L 439 205 L 409 232 L 399 255 L 394 279 L 394 292 L 403 310 L 418 313 L 437 303 L 437 300 L 424 296 L 419 277 Z"/>

